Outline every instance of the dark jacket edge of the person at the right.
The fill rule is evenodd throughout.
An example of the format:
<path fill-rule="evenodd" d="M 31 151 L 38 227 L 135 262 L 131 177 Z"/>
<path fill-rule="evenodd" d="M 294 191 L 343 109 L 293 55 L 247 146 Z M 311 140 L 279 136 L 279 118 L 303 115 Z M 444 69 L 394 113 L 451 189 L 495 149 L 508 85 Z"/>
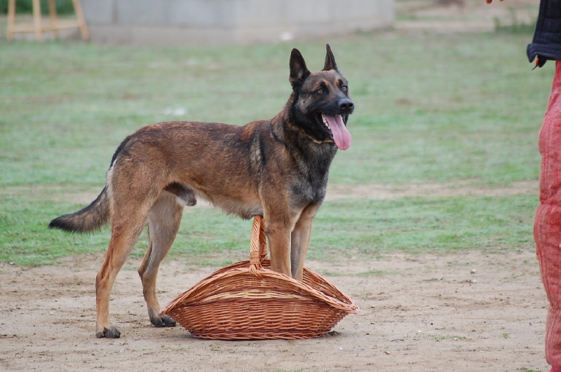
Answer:
<path fill-rule="evenodd" d="M 527 48 L 528 60 L 539 67 L 546 60 L 561 60 L 561 0 L 541 0 L 534 40 Z"/>

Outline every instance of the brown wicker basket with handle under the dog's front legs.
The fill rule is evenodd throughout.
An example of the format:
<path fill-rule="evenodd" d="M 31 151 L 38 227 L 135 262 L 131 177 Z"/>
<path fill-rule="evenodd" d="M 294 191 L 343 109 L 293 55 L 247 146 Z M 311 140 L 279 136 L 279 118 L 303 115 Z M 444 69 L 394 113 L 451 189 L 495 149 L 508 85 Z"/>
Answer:
<path fill-rule="evenodd" d="M 317 273 L 299 282 L 271 270 L 262 217 L 253 220 L 249 261 L 233 263 L 177 296 L 161 312 L 196 338 L 296 339 L 325 336 L 358 306 Z"/>

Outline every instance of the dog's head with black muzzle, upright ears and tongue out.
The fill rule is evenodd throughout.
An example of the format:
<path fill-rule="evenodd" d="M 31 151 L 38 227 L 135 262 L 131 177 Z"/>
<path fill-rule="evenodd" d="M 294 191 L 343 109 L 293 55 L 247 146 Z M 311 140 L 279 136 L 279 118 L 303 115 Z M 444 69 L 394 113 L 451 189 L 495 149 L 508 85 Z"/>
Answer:
<path fill-rule="evenodd" d="M 292 113 L 296 123 L 316 142 L 333 141 L 339 149 L 351 146 L 346 120 L 354 111 L 349 83 L 337 69 L 329 44 L 322 71 L 311 73 L 299 50 L 290 55 L 290 84 L 295 94 Z"/>

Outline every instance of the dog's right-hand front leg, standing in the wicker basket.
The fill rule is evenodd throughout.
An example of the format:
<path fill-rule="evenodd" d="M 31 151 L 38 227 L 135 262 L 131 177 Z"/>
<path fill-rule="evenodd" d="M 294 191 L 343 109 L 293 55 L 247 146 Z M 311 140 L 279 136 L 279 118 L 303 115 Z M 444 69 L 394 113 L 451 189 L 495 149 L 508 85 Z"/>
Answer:
<path fill-rule="evenodd" d="M 319 207 L 319 204 L 306 207 L 302 214 L 300 214 L 294 230 L 292 230 L 290 244 L 291 272 L 292 277 L 299 281 L 302 281 L 304 273 L 304 261 L 306 260 L 306 252 L 308 251 L 311 236 L 311 223 Z"/>

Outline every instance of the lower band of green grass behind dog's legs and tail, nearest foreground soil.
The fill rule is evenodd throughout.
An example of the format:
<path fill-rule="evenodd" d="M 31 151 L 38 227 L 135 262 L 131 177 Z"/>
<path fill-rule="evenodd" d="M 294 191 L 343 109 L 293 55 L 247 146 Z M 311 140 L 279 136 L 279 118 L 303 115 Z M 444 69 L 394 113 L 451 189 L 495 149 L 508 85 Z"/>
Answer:
<path fill-rule="evenodd" d="M 63 191 L 58 197 L 62 198 Z M 0 199 L 0 261 L 22 266 L 54 263 L 69 254 L 106 249 L 108 229 L 77 235 L 47 230 L 48 221 L 80 205 L 10 196 Z M 314 221 L 309 259 L 373 259 L 396 250 L 446 254 L 482 250 L 508 252 L 532 247 L 536 197 L 403 198 L 325 202 Z M 194 207 L 184 214 L 170 257 L 187 264 L 224 266 L 232 256 L 248 259 L 251 221 Z M 147 247 L 144 234 L 133 257 Z M 227 256 L 227 259 L 222 258 Z M 379 275 L 363 273 L 362 275 Z"/>

